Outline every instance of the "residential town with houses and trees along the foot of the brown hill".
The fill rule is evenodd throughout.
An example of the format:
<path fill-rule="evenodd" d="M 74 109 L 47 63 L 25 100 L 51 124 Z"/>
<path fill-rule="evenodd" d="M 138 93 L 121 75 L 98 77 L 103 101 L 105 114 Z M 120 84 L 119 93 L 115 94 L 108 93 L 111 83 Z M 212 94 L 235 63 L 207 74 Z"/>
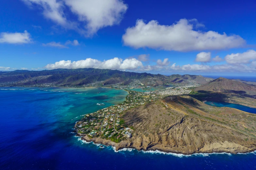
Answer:
<path fill-rule="evenodd" d="M 133 133 L 133 127 L 125 125 L 125 122 L 122 119 L 124 111 L 153 102 L 165 96 L 188 94 L 191 92 L 191 88 L 169 87 L 163 90 L 150 92 L 126 91 L 129 94 L 124 103 L 85 115 L 85 117 L 75 125 L 77 133 L 79 135 L 87 135 L 90 138 L 100 137 L 119 143 L 122 140 L 130 138 Z"/>

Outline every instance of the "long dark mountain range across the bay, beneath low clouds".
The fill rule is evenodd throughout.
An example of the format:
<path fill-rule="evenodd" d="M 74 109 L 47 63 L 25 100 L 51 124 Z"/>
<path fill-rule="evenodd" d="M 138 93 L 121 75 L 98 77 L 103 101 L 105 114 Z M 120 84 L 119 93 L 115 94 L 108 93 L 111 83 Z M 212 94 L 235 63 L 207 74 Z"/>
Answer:
<path fill-rule="evenodd" d="M 103 81 L 105 85 L 122 83 L 128 85 L 134 80 L 145 86 L 159 86 L 170 83 L 187 84 L 191 81 L 205 84 L 213 78 L 205 78 L 196 75 L 171 75 L 135 73 L 109 69 L 79 68 L 79 69 L 54 69 L 43 71 L 15 70 L 0 73 L 0 83 L 17 82 L 18 85 L 33 85 L 54 83 L 69 86 L 80 86 L 97 81 Z"/>

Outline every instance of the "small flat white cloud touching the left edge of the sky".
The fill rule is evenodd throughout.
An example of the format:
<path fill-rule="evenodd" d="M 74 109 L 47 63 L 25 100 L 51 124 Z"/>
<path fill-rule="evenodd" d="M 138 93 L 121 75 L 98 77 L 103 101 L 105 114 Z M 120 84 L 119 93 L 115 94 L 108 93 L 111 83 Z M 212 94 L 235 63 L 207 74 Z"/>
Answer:
<path fill-rule="evenodd" d="M 0 33 L 0 43 L 27 44 L 31 42 L 31 35 L 26 30 L 24 33 Z"/>

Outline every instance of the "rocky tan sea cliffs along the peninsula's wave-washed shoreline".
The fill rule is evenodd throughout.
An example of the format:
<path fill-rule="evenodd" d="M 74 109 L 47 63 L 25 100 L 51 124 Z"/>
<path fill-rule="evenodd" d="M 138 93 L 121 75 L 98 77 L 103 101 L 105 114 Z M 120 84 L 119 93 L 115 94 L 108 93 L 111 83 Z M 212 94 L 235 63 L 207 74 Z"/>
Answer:
<path fill-rule="evenodd" d="M 123 89 L 125 90 L 125 89 Z M 126 90 L 125 90 L 126 91 Z M 203 103 L 206 101 L 203 101 Z M 184 154 L 184 155 L 191 155 L 196 153 L 230 153 L 230 154 L 238 154 L 238 153 L 250 153 L 254 152 L 256 149 L 247 148 L 243 145 L 239 145 L 237 143 L 233 143 L 230 141 L 224 141 L 224 142 L 215 142 L 204 145 L 202 148 L 198 148 L 198 150 L 188 150 L 186 146 L 183 147 L 171 147 L 168 145 L 162 145 L 162 143 L 154 143 L 148 146 L 144 146 L 143 141 L 147 140 L 146 137 L 142 136 L 142 139 L 139 139 L 138 137 L 131 137 L 127 140 L 123 140 L 120 143 L 115 143 L 111 140 L 102 139 L 100 137 L 93 137 L 90 138 L 87 135 L 79 134 L 78 128 L 74 127 L 76 129 L 77 136 L 81 137 L 81 140 L 84 140 L 86 142 L 93 142 L 94 144 L 102 144 L 106 146 L 112 146 L 115 148 L 115 151 L 121 150 L 121 149 L 137 149 L 138 151 L 144 150 L 144 151 L 161 151 L 164 153 L 175 153 L 175 154 Z M 138 144 L 138 141 L 141 141 Z M 223 146 L 222 146 L 223 145 Z"/>

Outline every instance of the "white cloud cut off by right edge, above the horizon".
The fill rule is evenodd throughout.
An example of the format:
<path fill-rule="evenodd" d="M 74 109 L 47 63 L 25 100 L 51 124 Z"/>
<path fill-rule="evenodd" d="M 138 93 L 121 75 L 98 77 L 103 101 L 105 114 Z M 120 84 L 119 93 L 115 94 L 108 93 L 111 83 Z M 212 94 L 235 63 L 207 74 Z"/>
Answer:
<path fill-rule="evenodd" d="M 229 64 L 249 64 L 253 60 L 256 60 L 256 51 L 248 50 L 243 53 L 232 53 L 226 55 L 225 60 Z"/>

